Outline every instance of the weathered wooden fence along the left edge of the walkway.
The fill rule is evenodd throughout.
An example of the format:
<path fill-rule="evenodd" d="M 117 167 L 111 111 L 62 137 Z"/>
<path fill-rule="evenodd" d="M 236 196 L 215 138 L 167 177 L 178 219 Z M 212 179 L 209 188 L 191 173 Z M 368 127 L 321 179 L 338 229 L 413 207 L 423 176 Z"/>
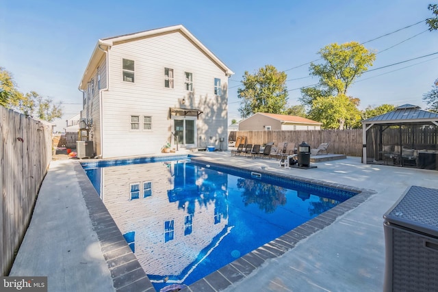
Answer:
<path fill-rule="evenodd" d="M 52 127 L 0 106 L 0 132 L 0 268 L 8 276 L 52 158 Z"/>

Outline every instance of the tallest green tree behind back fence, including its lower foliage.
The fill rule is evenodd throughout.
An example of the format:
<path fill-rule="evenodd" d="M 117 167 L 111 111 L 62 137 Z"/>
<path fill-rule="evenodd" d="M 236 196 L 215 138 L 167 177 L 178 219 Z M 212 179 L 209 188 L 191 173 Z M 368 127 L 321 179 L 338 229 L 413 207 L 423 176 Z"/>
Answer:
<path fill-rule="evenodd" d="M 315 86 L 301 89 L 300 101 L 310 107 L 310 116 L 322 122 L 324 127 L 357 127 L 361 119 L 360 111 L 357 109 L 360 101 L 347 96 L 348 88 L 372 66 L 376 53 L 369 51 L 359 42 L 329 44 L 318 53 L 323 62 L 312 62 L 309 74 L 319 77 L 320 80 Z M 329 101 L 323 101 L 323 98 L 328 98 Z M 344 108 L 335 108 L 339 106 Z M 322 111 L 322 108 L 325 111 Z M 331 114 L 335 116 L 330 116 Z"/>

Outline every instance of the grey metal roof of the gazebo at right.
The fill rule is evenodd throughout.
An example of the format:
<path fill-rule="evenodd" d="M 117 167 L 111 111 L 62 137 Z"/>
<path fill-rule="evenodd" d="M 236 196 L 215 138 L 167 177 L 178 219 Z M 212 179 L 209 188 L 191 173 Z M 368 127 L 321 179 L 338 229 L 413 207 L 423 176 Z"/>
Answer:
<path fill-rule="evenodd" d="M 437 122 L 438 114 L 424 111 L 417 105 L 400 105 L 394 111 L 363 120 L 362 124 L 395 124 L 410 122 Z"/>

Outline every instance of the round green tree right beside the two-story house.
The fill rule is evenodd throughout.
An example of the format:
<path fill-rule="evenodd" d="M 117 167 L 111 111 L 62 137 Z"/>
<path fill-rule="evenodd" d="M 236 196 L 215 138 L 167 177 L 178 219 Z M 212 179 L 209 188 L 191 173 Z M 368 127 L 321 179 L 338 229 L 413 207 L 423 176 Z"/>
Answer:
<path fill-rule="evenodd" d="M 247 118 L 258 112 L 282 114 L 287 103 L 286 79 L 286 73 L 272 65 L 259 68 L 254 75 L 245 71 L 244 88 L 237 89 L 237 97 L 243 99 L 240 116 Z"/>

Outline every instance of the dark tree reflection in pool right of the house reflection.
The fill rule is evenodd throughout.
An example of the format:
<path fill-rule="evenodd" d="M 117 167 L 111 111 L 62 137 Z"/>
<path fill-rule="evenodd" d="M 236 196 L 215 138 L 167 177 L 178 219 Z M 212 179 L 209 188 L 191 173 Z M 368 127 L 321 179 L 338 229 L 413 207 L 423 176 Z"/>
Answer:
<path fill-rule="evenodd" d="M 273 213 L 278 206 L 286 204 L 286 189 L 247 178 L 237 179 L 237 187 L 244 189 L 242 198 L 245 206 L 258 204 L 259 209 Z"/>

